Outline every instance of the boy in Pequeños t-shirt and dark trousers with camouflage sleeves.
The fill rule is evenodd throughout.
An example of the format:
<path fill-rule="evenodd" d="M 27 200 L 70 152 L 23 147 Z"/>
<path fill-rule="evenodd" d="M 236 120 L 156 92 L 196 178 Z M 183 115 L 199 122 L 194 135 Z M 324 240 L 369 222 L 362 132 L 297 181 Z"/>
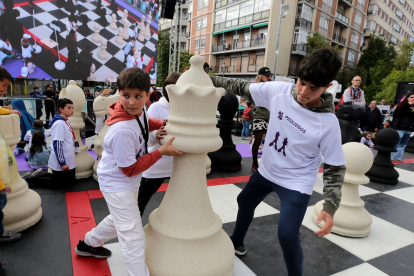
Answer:
<path fill-rule="evenodd" d="M 294 84 L 262 82 L 211 76 L 216 87 L 240 95 L 270 111 L 269 128 L 261 164 L 237 197 L 239 211 L 231 239 L 237 255 L 246 254 L 244 238 L 257 205 L 271 192 L 281 201 L 278 238 L 288 274 L 303 274 L 299 229 L 324 158 L 323 210 L 317 222 L 325 225 L 315 233 L 330 233 L 333 216 L 341 201 L 345 157 L 341 130 L 334 115 L 331 86 L 342 61 L 330 49 L 310 53 L 300 65 Z"/>

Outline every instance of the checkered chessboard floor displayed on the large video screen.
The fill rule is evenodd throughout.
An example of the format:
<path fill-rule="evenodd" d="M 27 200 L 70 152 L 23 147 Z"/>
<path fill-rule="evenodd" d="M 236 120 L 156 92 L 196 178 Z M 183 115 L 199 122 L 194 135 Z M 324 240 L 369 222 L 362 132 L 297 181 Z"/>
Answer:
<path fill-rule="evenodd" d="M 33 45 L 35 43 L 34 39 L 36 39 L 36 43 L 42 47 L 41 53 L 33 53 L 32 62 L 36 66 L 36 70 L 32 75 L 29 75 L 29 78 L 78 79 L 77 72 L 70 72 L 67 68 L 59 71 L 54 66 L 55 62 L 58 61 L 59 58 L 61 61 L 65 63 L 67 62 L 68 49 L 66 47 L 66 36 L 68 31 L 66 30 L 66 23 L 68 22 L 70 12 L 68 12 L 64 7 L 59 8 L 56 0 L 33 1 L 33 8 L 29 5 L 29 2 L 16 2 L 20 1 L 15 1 L 14 5 L 14 9 L 20 11 L 20 16 L 17 18 L 17 21 L 22 24 L 23 31 L 31 35 L 31 44 Z M 112 10 L 109 9 L 109 1 L 102 0 L 102 8 L 106 9 L 106 20 L 103 20 L 96 12 L 98 5 L 97 0 L 81 2 L 82 6 L 80 15 L 86 15 L 88 19 L 85 23 L 77 20 L 78 53 L 81 53 L 82 49 L 85 48 L 86 45 L 90 45 L 93 53 L 93 63 L 96 68 L 95 77 L 99 79 L 99 81 L 105 81 L 107 76 L 113 76 L 116 78 L 124 69 L 123 48 L 125 47 L 128 39 L 124 40 L 122 45 L 115 42 L 118 35 L 118 29 L 113 30 L 109 27 L 112 22 Z M 134 23 L 141 22 L 141 18 L 143 16 L 142 12 L 134 9 L 122 0 L 116 0 L 115 2 L 117 4 L 118 15 L 116 22 L 117 27 L 123 27 L 121 18 L 124 16 L 124 9 L 128 9 L 128 21 L 130 22 L 128 31 L 129 36 L 133 37 L 135 27 Z M 35 14 L 34 20 L 33 9 Z M 80 18 L 78 12 L 75 13 L 75 16 L 77 19 Z M 147 15 L 144 16 L 146 20 Z M 57 41 L 59 44 L 53 45 L 56 44 L 53 43 L 56 42 L 56 38 L 54 34 L 55 31 L 51 27 L 51 23 L 56 21 L 58 22 L 57 26 L 60 28 L 60 32 L 57 32 Z M 101 49 L 100 43 L 96 43 L 92 40 L 95 23 L 97 23 L 100 27 L 100 36 L 108 41 L 106 49 L 108 52 L 108 59 L 106 60 L 102 60 L 98 57 L 98 52 Z M 136 41 L 135 43 L 135 47 L 144 53 L 143 69 L 146 71 L 149 71 L 153 64 L 155 45 L 158 41 L 158 24 L 156 20 L 151 21 L 150 33 L 150 38 L 145 38 L 143 42 Z M 49 43 L 50 40 L 53 40 L 53 42 Z M 20 75 L 20 69 L 23 66 L 23 62 L 22 59 L 4 59 L 3 66 L 12 73 L 13 77 L 18 77 Z"/>

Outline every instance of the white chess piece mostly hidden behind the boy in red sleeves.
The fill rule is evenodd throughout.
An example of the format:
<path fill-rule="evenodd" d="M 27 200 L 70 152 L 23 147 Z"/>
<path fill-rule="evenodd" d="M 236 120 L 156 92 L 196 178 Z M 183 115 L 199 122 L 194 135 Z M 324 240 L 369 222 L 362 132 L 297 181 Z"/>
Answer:
<path fill-rule="evenodd" d="M 95 101 L 93 102 L 93 112 L 95 113 L 96 117 L 103 117 L 109 114 L 109 107 L 119 101 L 119 91 L 116 91 L 114 95 L 108 97 L 98 96 L 96 97 Z M 104 124 L 102 130 L 99 132 L 98 136 L 95 138 L 94 141 L 94 151 L 98 159 L 96 160 L 95 164 L 93 165 L 93 178 L 98 181 L 98 175 L 96 174 L 96 170 L 98 169 L 99 162 L 101 161 L 102 153 L 103 153 L 103 139 L 105 138 L 106 132 L 108 131 L 109 126 Z"/>

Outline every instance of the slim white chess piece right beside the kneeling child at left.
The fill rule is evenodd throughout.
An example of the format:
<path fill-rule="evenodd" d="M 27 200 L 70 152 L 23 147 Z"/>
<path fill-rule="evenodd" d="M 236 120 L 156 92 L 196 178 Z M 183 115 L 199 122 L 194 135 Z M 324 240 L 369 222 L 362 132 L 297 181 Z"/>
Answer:
<path fill-rule="evenodd" d="M 87 153 L 86 147 L 80 138 L 80 129 L 85 127 L 85 123 L 82 119 L 82 109 L 85 106 L 85 93 L 82 89 L 76 85 L 76 81 L 69 81 L 69 85 L 66 86 L 66 98 L 73 102 L 73 116 L 69 117 L 70 125 L 75 133 L 75 142 L 79 143 L 81 152 L 75 155 L 75 175 L 76 179 L 87 178 L 92 176 L 93 163 L 95 160 L 92 155 Z"/>

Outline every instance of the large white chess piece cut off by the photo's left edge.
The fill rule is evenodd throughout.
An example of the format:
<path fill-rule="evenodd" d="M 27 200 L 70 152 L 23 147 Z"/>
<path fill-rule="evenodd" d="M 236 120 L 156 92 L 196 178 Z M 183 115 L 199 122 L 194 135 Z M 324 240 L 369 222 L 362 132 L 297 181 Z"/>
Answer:
<path fill-rule="evenodd" d="M 19 115 L 0 116 L 0 132 L 6 139 L 10 149 L 13 150 L 16 143 L 20 142 Z M 3 151 L 1 151 L 3 153 Z M 0 162 L 16 162 L 9 160 L 7 155 L 0 155 Z M 5 173 L 5 172 L 3 172 Z M 12 183 L 13 193 L 7 194 L 7 205 L 3 209 L 3 225 L 6 231 L 20 232 L 37 223 L 42 218 L 41 199 L 38 193 L 30 190 L 18 172 L 15 182 Z"/>

